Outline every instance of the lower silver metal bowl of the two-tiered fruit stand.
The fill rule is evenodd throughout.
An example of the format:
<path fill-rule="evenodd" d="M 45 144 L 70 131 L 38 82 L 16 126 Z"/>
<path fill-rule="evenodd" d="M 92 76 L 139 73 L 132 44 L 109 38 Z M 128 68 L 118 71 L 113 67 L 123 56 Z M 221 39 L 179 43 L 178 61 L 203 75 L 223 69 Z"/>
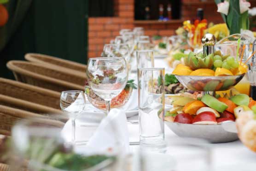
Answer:
<path fill-rule="evenodd" d="M 238 140 L 236 125 L 233 121 L 225 121 L 217 125 L 181 124 L 169 121 L 165 121 L 165 124 L 179 137 L 202 138 L 211 143 Z"/>

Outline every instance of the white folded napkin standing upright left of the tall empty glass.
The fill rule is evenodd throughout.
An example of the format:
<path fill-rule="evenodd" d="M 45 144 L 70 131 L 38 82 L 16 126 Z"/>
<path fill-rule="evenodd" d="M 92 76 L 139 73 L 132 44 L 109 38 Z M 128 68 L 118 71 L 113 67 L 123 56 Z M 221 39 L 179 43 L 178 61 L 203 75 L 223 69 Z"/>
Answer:
<path fill-rule="evenodd" d="M 105 117 L 93 137 L 87 143 L 91 152 L 107 151 L 109 148 L 116 148 L 120 145 L 122 152 L 129 153 L 129 137 L 127 119 L 123 110 L 111 109 Z"/>

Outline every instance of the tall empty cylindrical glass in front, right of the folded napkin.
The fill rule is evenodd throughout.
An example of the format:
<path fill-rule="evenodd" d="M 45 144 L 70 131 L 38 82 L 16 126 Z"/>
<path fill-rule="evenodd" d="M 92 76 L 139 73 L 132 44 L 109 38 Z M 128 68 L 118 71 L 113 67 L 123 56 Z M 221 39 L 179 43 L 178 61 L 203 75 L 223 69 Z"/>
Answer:
<path fill-rule="evenodd" d="M 164 142 L 164 68 L 138 68 L 140 145 L 166 150 Z"/>

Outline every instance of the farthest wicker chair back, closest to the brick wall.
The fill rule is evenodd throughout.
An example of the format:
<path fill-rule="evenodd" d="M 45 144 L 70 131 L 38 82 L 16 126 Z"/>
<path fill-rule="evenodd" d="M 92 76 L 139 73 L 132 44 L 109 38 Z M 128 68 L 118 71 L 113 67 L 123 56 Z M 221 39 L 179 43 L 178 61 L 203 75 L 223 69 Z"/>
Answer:
<path fill-rule="evenodd" d="M 42 63 L 47 65 L 55 65 L 63 68 L 70 68 L 76 71 L 80 71 L 83 74 L 86 71 L 87 65 L 81 63 L 72 62 L 69 60 L 61 59 L 58 57 L 52 57 L 48 55 L 43 55 L 39 53 L 27 53 L 25 59 L 30 62 Z"/>

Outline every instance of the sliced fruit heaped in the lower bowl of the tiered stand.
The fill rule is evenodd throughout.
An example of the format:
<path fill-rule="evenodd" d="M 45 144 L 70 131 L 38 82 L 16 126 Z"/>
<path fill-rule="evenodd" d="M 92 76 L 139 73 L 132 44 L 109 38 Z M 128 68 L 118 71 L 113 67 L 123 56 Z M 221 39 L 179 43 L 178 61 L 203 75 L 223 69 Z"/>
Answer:
<path fill-rule="evenodd" d="M 166 116 L 183 124 L 221 124 L 224 121 L 235 121 L 241 114 L 256 108 L 256 101 L 248 95 L 237 94 L 232 97 L 173 97 L 174 106 Z"/>

